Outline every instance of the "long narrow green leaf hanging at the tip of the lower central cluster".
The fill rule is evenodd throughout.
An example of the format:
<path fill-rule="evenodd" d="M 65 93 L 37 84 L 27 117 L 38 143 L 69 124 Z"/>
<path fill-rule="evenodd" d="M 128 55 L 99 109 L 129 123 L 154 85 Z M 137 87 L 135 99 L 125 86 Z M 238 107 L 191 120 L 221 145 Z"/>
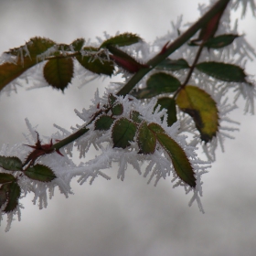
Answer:
<path fill-rule="evenodd" d="M 172 159 L 177 176 L 190 187 L 196 187 L 194 170 L 180 145 L 165 133 L 156 133 L 156 138 Z"/>

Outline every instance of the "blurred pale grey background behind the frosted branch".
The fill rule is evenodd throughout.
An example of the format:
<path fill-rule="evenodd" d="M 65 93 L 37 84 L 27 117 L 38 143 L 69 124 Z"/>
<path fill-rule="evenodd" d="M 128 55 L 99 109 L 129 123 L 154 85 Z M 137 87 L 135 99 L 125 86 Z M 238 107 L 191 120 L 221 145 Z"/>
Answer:
<path fill-rule="evenodd" d="M 198 17 L 197 4 L 207 0 L 0 0 L 0 52 L 23 45 L 30 37 L 49 37 L 69 44 L 75 38 L 102 37 L 107 31 L 133 32 L 147 41 L 165 35 L 170 21 L 183 14 L 185 22 Z M 255 19 L 240 23 L 255 46 Z M 255 74 L 256 62 L 248 65 Z M 114 79 L 113 79 L 114 80 Z M 24 141 L 24 119 L 39 133 L 56 132 L 52 123 L 69 129 L 80 123 L 73 110 L 88 107 L 94 91 L 101 93 L 109 80 L 96 80 L 78 88 L 75 81 L 62 94 L 50 88 L 18 88 L 0 96 L 0 145 Z M 235 140 L 227 140 L 225 153 L 204 176 L 205 214 L 187 206 L 189 196 L 172 188 L 171 178 L 157 187 L 130 169 L 124 181 L 99 177 L 94 184 L 77 185 L 68 199 L 59 195 L 39 210 L 23 200 L 21 222 L 5 233 L 0 227 L 0 255 L 5 256 L 153 256 L 153 255 L 255 255 L 256 254 L 256 117 L 243 115 L 244 102 L 232 118 L 240 121 Z M 94 153 L 91 153 L 92 155 Z"/>

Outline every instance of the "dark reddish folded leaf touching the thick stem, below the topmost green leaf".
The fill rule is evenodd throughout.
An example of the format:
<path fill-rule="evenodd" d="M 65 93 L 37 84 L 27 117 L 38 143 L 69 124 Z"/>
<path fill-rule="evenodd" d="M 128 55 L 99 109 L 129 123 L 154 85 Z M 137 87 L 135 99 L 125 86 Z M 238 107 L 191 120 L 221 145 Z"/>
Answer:
<path fill-rule="evenodd" d="M 109 46 L 108 49 L 112 53 L 110 58 L 115 62 L 116 65 L 125 69 L 126 71 L 130 73 L 136 73 L 140 69 L 144 68 L 143 64 L 133 59 L 133 57 L 131 57 L 126 52 L 123 52 L 123 50 L 112 46 Z"/>

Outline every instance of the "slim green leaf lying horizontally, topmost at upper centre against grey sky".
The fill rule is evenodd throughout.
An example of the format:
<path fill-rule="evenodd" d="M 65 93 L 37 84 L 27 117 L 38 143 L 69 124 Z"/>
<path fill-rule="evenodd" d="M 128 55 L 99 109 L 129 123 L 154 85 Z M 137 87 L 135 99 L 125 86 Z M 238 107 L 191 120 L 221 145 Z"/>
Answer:
<path fill-rule="evenodd" d="M 125 47 L 125 46 L 130 46 L 135 43 L 138 43 L 142 41 L 141 37 L 138 37 L 135 34 L 132 33 L 124 33 L 115 37 L 111 37 L 107 40 L 105 40 L 100 48 L 107 48 L 108 46 L 117 46 L 117 47 Z"/>

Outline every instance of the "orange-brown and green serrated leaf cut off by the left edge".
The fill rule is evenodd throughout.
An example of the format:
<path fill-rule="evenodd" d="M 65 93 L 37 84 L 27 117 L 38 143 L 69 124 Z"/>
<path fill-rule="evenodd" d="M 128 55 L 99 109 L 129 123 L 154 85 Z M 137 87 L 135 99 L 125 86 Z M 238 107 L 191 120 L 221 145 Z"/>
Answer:
<path fill-rule="evenodd" d="M 27 69 L 37 65 L 42 59 L 37 59 L 37 55 L 45 52 L 48 48 L 51 48 L 56 43 L 48 38 L 34 37 L 31 38 L 25 46 L 20 48 L 12 48 L 7 54 L 15 56 L 18 59 L 16 63 L 7 63 L 0 65 L 0 91 L 13 80 L 16 80 Z M 29 56 L 24 48 L 27 48 Z M 20 57 L 20 52 L 23 53 L 23 59 Z"/>

